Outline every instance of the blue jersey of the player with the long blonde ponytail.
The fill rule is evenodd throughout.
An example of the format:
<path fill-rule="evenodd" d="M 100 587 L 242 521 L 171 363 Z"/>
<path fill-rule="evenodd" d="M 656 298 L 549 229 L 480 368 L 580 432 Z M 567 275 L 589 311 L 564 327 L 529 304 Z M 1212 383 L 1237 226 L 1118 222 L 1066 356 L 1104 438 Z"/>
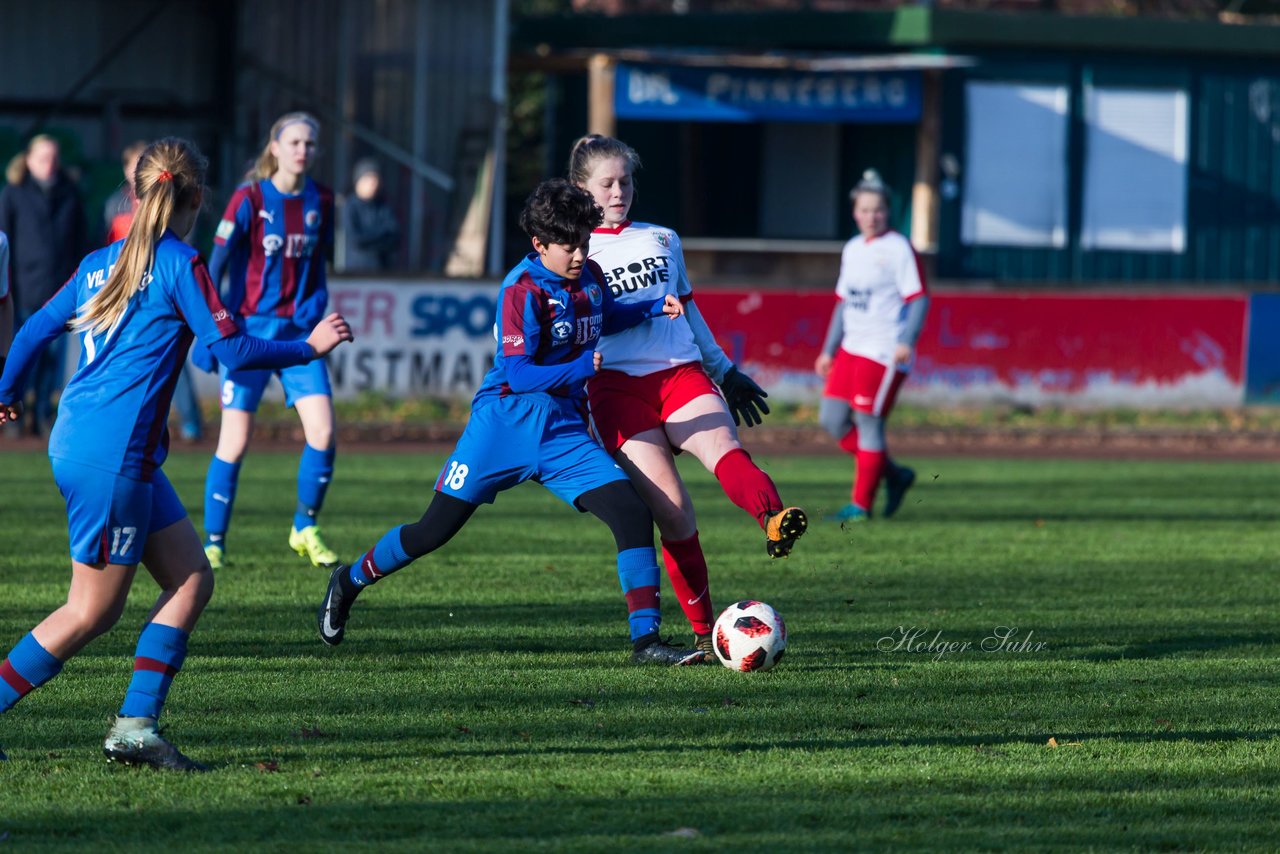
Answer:
<path fill-rule="evenodd" d="M 41 311 L 69 323 L 106 283 L 122 248 L 123 241 L 86 256 Z M 150 480 L 168 455 L 169 402 L 192 333 L 209 346 L 237 332 L 200 255 L 165 232 L 147 284 L 119 323 L 79 333 L 79 364 L 58 403 L 49 456 Z M 0 389 L 0 399 L 9 396 Z"/>

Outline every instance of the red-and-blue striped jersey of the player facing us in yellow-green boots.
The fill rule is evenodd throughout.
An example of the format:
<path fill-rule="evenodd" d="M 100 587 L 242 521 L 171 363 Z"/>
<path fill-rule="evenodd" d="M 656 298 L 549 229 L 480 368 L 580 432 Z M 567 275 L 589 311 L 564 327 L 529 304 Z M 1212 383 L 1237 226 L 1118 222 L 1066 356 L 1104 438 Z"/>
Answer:
<path fill-rule="evenodd" d="M 333 255 L 333 192 L 310 178 L 297 195 L 269 179 L 236 189 L 214 237 L 209 271 L 229 274 L 224 302 L 255 335 L 288 337 L 324 316 Z"/>

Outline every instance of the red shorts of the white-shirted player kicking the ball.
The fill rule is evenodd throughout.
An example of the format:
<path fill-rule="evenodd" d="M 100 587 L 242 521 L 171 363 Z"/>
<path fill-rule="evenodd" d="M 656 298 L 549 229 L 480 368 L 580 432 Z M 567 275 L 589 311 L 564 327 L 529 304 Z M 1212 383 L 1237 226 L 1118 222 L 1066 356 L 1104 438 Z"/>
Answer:
<path fill-rule="evenodd" d="M 602 370 L 586 380 L 595 433 L 609 456 L 631 437 L 660 428 L 681 406 L 703 394 L 719 396 L 719 389 L 698 362 L 644 376 Z"/>

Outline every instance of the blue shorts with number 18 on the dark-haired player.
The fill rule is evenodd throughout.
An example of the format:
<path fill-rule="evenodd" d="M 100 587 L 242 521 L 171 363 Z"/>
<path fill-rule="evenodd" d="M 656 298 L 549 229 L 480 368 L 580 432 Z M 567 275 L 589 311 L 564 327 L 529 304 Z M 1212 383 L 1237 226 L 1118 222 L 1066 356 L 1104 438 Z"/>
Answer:
<path fill-rule="evenodd" d="M 579 495 L 626 479 L 581 415 L 544 398 L 511 394 L 471 411 L 435 489 L 471 504 L 492 504 L 499 492 L 535 480 L 577 507 Z"/>

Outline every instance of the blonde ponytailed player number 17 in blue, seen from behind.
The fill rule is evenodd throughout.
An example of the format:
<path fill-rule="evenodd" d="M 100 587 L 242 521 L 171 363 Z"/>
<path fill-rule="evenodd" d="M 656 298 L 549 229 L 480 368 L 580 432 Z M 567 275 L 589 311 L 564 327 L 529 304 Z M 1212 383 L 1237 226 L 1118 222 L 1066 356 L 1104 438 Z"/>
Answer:
<path fill-rule="evenodd" d="M 349 341 L 351 329 L 330 315 L 305 341 L 243 334 L 196 250 L 178 238 L 200 213 L 205 159 L 184 140 L 160 140 L 142 152 L 133 182 L 138 207 L 128 237 L 81 261 L 22 326 L 0 376 L 4 424 L 20 415 L 23 385 L 49 342 L 68 324 L 82 339 L 49 437 L 54 480 L 67 499 L 72 585 L 67 604 L 0 663 L 0 713 L 119 620 L 141 562 L 160 595 L 104 750 L 129 764 L 201 771 L 156 729 L 187 638 L 214 592 L 200 538 L 160 470 L 174 384 L 192 337 L 227 365 L 279 369 L 325 355 Z"/>

